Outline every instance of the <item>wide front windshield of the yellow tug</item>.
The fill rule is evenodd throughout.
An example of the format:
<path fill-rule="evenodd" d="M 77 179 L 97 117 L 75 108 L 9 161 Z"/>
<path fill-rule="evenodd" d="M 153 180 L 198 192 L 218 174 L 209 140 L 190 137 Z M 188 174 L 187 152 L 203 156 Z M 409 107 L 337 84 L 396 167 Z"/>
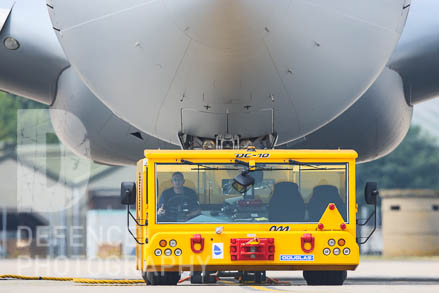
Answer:
<path fill-rule="evenodd" d="M 243 193 L 242 164 L 157 163 L 156 223 L 315 223 L 329 203 L 347 222 L 348 164 L 294 162 L 256 164 Z"/>

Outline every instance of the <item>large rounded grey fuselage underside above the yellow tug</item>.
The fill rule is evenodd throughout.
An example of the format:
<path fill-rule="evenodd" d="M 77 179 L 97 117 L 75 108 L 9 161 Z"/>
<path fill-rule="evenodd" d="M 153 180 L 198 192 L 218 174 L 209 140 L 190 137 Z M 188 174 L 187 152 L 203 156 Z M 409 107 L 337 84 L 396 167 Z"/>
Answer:
<path fill-rule="evenodd" d="M 74 68 L 116 115 L 279 143 L 335 119 L 388 61 L 407 0 L 50 0 Z M 86 8 L 85 8 L 86 7 Z"/>

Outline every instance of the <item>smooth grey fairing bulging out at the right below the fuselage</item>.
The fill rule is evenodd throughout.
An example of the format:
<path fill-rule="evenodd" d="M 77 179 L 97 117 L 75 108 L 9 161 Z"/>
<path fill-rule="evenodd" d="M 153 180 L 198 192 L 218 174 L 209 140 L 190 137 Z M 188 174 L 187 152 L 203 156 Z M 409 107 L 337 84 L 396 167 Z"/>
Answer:
<path fill-rule="evenodd" d="M 279 148 L 354 149 L 358 161 L 378 159 L 394 150 L 410 127 L 413 107 L 401 77 L 386 68 L 346 112 L 321 129 Z"/>

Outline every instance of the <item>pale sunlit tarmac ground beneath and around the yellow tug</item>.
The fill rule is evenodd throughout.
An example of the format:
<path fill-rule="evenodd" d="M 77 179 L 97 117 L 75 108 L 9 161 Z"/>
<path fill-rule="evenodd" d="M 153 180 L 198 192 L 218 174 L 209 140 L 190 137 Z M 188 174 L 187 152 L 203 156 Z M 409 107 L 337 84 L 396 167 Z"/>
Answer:
<path fill-rule="evenodd" d="M 51 276 L 93 279 L 140 279 L 133 260 L 1 260 L 0 275 Z M 217 284 L 175 286 L 89 285 L 72 281 L 0 280 L 0 292 L 439 292 L 439 258 L 362 259 L 356 271 L 348 272 L 343 286 L 306 286 L 302 272 L 267 272 L 282 284 L 242 285 L 233 278 Z"/>

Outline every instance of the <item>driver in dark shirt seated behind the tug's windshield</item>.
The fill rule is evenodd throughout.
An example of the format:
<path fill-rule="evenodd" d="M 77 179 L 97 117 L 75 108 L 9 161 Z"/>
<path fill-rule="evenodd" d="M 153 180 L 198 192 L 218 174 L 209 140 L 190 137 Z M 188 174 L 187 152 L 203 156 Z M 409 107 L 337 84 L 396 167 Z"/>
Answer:
<path fill-rule="evenodd" d="M 181 172 L 172 174 L 173 187 L 163 191 L 157 205 L 158 220 L 162 222 L 185 222 L 201 213 L 198 196 L 184 186 Z"/>

